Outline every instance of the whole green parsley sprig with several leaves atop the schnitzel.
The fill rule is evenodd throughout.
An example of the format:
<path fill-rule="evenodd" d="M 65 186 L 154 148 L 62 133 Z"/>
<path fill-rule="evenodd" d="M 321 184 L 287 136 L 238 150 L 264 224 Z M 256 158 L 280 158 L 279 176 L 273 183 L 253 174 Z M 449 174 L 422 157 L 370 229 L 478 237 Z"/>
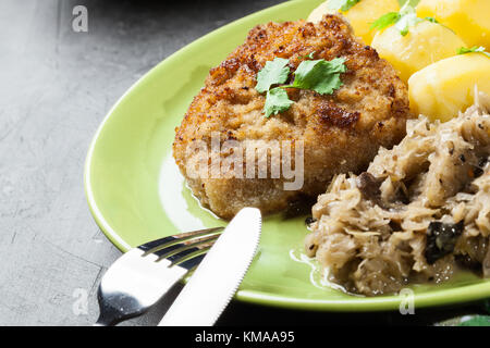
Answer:
<path fill-rule="evenodd" d="M 310 53 L 309 57 L 313 58 Z M 335 58 L 331 61 L 319 59 L 315 61 L 303 61 L 294 73 L 292 85 L 283 85 L 270 89 L 272 85 L 280 85 L 287 80 L 290 69 L 287 60 L 275 58 L 267 62 L 266 66 L 257 74 L 255 89 L 259 92 L 267 91 L 264 113 L 266 117 L 286 111 L 294 103 L 287 97 L 284 88 L 298 88 L 314 90 L 320 95 L 331 95 L 342 86 L 341 73 L 346 72 L 344 58 Z"/>

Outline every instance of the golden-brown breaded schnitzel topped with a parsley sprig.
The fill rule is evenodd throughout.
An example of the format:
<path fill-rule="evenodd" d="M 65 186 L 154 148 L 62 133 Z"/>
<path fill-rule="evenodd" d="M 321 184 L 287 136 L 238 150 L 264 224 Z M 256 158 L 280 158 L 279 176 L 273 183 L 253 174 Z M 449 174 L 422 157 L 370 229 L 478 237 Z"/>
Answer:
<path fill-rule="evenodd" d="M 287 59 L 294 73 L 305 57 L 326 61 L 343 58 L 343 85 L 332 95 L 287 88 L 291 108 L 266 117 L 266 97 L 255 89 L 257 73 L 274 58 Z M 194 195 L 216 214 L 232 217 L 243 207 L 271 213 L 301 196 L 315 198 L 324 192 L 334 174 L 365 170 L 380 146 L 391 148 L 404 137 L 408 117 L 406 86 L 387 61 L 353 36 L 343 17 L 326 15 L 318 24 L 268 23 L 253 28 L 245 44 L 210 71 L 176 128 L 173 154 Z M 193 146 L 199 142 L 211 149 L 217 135 L 218 145 L 233 140 L 243 149 L 254 140 L 289 141 L 292 149 L 301 142 L 302 163 L 297 159 L 292 162 L 295 170 L 302 170 L 303 185 L 285 189 L 284 183 L 292 178 L 283 172 L 271 175 L 271 159 L 267 161 L 267 177 L 237 177 L 223 169 L 221 176 L 191 175 L 191 161 L 198 158 L 209 166 L 212 162 L 211 150 L 197 151 Z M 260 150 L 268 151 L 259 145 Z M 221 150 L 219 156 L 229 154 Z M 249 164 L 247 159 L 241 158 L 243 172 Z M 234 170 L 236 173 L 236 165 Z"/>

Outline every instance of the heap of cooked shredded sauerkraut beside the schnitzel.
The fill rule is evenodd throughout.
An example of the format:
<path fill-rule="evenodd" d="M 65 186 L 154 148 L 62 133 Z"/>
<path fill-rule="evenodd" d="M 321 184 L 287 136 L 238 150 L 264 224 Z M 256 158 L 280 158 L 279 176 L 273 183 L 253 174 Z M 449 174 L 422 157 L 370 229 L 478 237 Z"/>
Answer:
<path fill-rule="evenodd" d="M 338 175 L 313 208 L 308 256 L 347 291 L 440 283 L 460 265 L 490 276 L 490 99 L 446 123 L 407 121 L 360 175 Z"/>

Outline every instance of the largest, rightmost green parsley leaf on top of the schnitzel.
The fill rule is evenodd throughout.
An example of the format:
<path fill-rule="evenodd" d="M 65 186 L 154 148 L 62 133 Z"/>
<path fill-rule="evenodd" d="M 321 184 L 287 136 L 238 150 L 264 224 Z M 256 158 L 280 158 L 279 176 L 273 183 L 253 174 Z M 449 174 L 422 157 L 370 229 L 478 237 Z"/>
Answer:
<path fill-rule="evenodd" d="M 342 86 L 340 74 L 346 72 L 345 59 L 335 58 L 331 61 L 324 59 L 302 62 L 294 73 L 293 85 L 301 89 L 311 89 L 320 95 L 331 95 Z"/>

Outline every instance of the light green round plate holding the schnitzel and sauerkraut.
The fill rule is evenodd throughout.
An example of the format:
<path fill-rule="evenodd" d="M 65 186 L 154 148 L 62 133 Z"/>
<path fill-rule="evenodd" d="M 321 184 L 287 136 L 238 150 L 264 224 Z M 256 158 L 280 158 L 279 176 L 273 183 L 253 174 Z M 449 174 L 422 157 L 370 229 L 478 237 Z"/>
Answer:
<path fill-rule="evenodd" d="M 88 151 L 85 190 L 100 228 L 121 250 L 204 226 L 224 225 L 186 188 L 171 156 L 174 128 L 210 67 L 259 23 L 305 18 L 321 1 L 289 1 L 231 23 L 183 48 L 138 80 L 112 108 Z M 265 219 L 259 253 L 236 299 L 311 310 L 396 309 L 396 296 L 357 297 L 322 285 L 314 263 L 301 260 L 304 217 Z M 413 287 L 415 306 L 490 296 L 490 282 L 470 274 L 438 286 Z"/>

